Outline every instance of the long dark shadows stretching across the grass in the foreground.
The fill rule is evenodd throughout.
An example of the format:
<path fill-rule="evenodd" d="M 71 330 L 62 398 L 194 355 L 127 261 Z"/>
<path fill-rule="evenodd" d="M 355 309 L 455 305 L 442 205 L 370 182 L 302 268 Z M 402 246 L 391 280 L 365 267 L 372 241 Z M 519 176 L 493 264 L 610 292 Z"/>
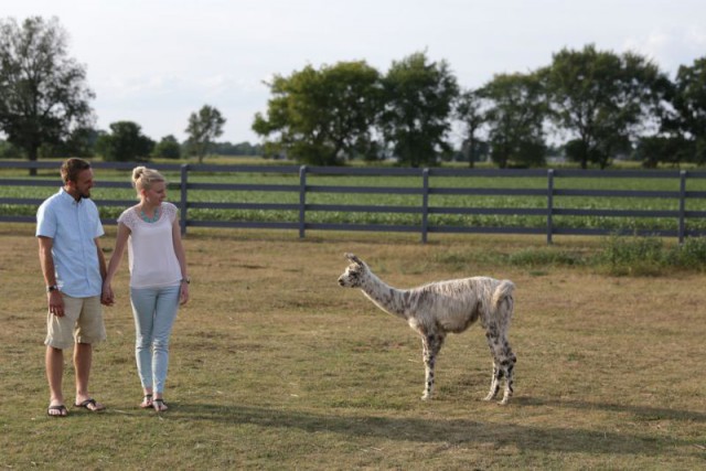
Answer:
<path fill-rule="evenodd" d="M 596 407 L 587 404 L 586 408 Z M 619 408 L 620 406 L 616 406 Z M 624 410 L 624 409 L 621 409 Z M 641 411 L 660 415 L 660 410 Z M 302 410 L 269 409 L 248 406 L 178 405 L 172 419 L 247 424 L 259 427 L 293 428 L 306 432 L 342 433 L 359 438 L 456 446 L 515 446 L 518 449 L 549 452 L 593 452 L 646 456 L 703 456 L 697 440 L 655 438 L 648 435 L 597 431 L 567 427 L 539 427 L 516 424 L 481 424 L 470 419 L 424 419 L 415 417 L 375 417 L 370 415 L 322 415 Z M 687 411 L 671 411 L 680 418 L 694 419 Z M 699 416 L 696 414 L 696 416 Z M 704 417 L 697 418 L 703 420 Z M 688 449 L 685 450 L 685 448 Z M 693 449 L 694 451 L 692 451 Z"/>

